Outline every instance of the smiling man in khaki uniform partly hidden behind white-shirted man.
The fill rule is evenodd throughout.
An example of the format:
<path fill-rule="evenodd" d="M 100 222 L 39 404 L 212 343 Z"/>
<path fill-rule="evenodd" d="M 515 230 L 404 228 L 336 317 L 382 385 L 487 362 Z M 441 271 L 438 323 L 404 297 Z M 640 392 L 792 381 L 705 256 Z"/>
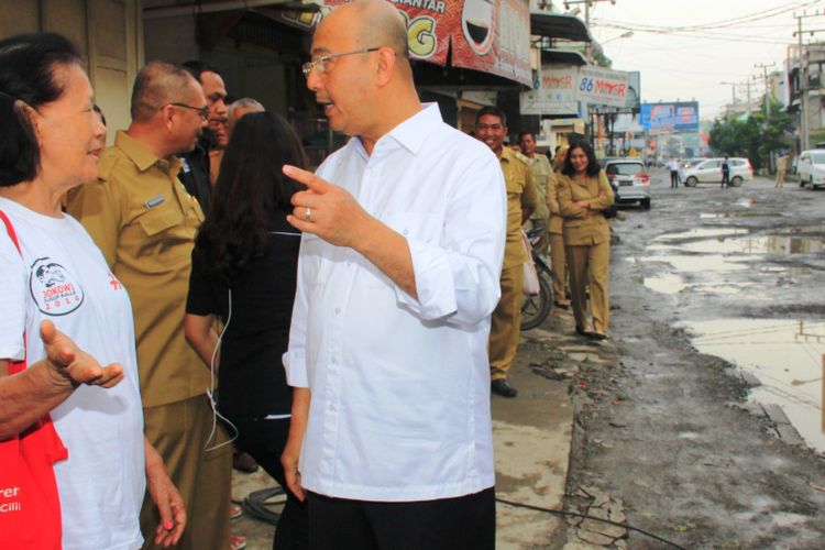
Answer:
<path fill-rule="evenodd" d="M 524 264 L 527 252 L 521 243 L 521 224 L 538 207 L 539 198 L 532 182 L 528 158 L 504 146 L 507 119 L 495 107 L 485 107 L 475 118 L 475 136 L 498 156 L 507 185 L 507 243 L 502 266 L 502 299 L 493 311 L 490 329 L 491 389 L 504 397 L 518 392 L 507 382 L 507 371 L 518 351 L 521 324 Z"/>

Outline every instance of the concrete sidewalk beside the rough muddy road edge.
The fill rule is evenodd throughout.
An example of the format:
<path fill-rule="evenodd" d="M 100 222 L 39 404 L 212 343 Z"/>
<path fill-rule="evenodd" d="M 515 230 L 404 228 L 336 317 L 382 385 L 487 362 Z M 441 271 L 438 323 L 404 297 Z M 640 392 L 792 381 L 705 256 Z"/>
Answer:
<path fill-rule="evenodd" d="M 571 363 L 593 355 L 594 345 L 597 349 L 598 344 L 573 336 L 572 315 L 559 309 L 542 328 L 522 333 L 509 374 L 518 397 L 493 396 L 492 402 L 497 497 L 542 508 L 562 507 L 573 429 L 568 376 L 576 371 Z M 562 380 L 551 380 L 556 377 Z M 272 486 L 275 482 L 261 470 L 233 472 L 234 498 Z M 503 503 L 496 513 L 499 549 L 564 546 L 566 522 L 559 516 Z M 272 548 L 274 527 L 249 514 L 233 520 L 232 530 L 246 537 L 249 550 Z"/>

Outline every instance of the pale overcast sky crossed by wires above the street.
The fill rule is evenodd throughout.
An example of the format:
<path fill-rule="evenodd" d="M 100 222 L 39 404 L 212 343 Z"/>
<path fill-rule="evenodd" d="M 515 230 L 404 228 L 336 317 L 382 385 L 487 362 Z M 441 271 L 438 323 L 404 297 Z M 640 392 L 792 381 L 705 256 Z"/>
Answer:
<path fill-rule="evenodd" d="M 701 119 L 713 120 L 732 100 L 733 87 L 721 82 L 740 82 L 736 94 L 744 101 L 746 80 L 757 77 L 751 97 L 763 94 L 763 69 L 755 65 L 782 69 L 788 46 L 798 42 L 794 15 L 817 10 L 825 12 L 825 0 L 598 1 L 591 34 L 613 68 L 641 72 L 644 102 L 696 99 Z M 804 43 L 825 40 L 825 15 L 803 19 L 802 29 L 823 30 Z M 631 36 L 618 37 L 628 30 Z"/>

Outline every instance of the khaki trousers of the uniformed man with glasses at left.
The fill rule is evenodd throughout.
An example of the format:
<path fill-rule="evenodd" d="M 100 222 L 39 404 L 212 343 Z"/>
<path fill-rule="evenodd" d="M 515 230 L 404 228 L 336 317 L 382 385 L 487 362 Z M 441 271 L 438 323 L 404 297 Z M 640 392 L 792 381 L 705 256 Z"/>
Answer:
<path fill-rule="evenodd" d="M 208 398 L 204 395 L 144 408 L 143 415 L 146 438 L 163 457 L 186 506 L 186 530 L 175 548 L 228 550 L 232 446 L 204 451 L 212 430 Z M 209 448 L 224 441 L 226 433 L 218 424 Z M 153 543 L 158 522 L 157 508 L 146 493 L 141 510 L 143 548 L 161 548 Z"/>

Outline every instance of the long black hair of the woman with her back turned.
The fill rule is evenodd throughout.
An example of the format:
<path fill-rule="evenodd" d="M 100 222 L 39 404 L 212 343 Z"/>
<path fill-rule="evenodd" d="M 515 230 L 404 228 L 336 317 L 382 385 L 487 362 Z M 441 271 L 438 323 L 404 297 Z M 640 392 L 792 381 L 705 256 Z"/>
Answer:
<path fill-rule="evenodd" d="M 267 244 L 267 221 L 292 212 L 289 200 L 304 186 L 282 173 L 285 164 L 309 164 L 295 130 L 273 112 L 241 117 L 223 153 L 209 217 L 196 244 L 205 268 L 232 287 L 250 260 Z"/>

